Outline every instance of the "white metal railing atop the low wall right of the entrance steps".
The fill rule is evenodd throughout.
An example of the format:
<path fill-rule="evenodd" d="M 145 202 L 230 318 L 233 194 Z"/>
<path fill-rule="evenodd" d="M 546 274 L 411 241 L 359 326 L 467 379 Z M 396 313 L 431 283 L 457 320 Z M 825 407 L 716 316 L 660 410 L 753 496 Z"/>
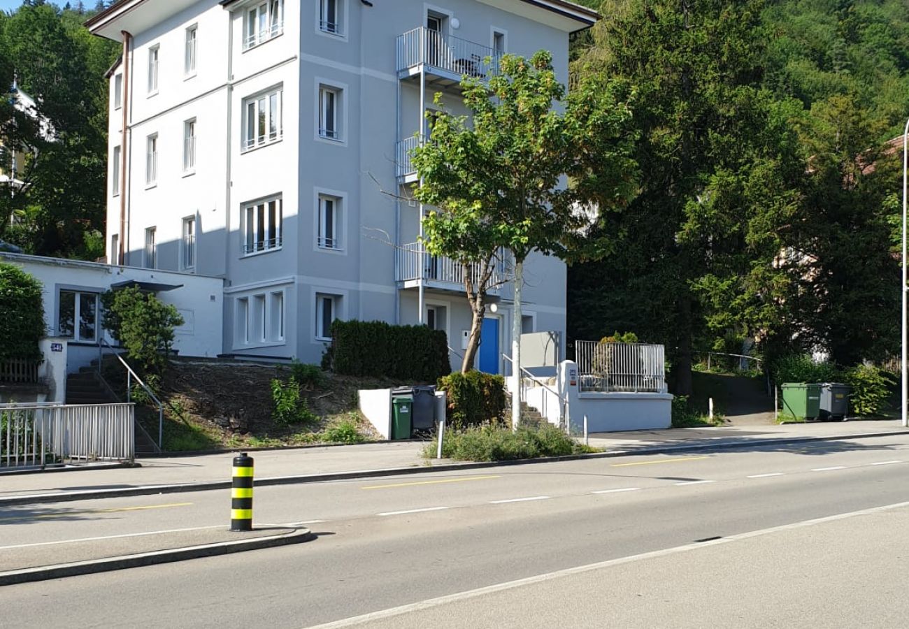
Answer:
<path fill-rule="evenodd" d="M 581 391 L 663 393 L 664 346 L 575 341 Z"/>

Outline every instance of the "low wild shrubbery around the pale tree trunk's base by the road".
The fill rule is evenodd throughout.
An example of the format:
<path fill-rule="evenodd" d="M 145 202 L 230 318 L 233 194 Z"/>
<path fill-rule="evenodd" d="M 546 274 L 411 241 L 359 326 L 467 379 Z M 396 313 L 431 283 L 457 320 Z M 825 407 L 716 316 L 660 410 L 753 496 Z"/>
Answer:
<path fill-rule="evenodd" d="M 426 446 L 426 458 L 435 457 L 437 443 Z M 590 451 L 552 424 L 521 426 L 515 432 L 497 425 L 471 426 L 446 431 L 442 444 L 442 455 L 456 461 L 511 461 Z"/>

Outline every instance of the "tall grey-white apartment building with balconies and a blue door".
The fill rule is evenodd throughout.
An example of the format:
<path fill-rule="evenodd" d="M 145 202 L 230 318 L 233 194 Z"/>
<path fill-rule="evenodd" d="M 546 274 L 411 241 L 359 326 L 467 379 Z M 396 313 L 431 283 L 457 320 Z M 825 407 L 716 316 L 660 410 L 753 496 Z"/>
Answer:
<path fill-rule="evenodd" d="M 110 71 L 108 261 L 225 278 L 224 353 L 317 363 L 335 318 L 429 324 L 460 364 L 461 271 L 417 245 L 408 150 L 435 93 L 503 53 L 554 55 L 564 0 L 123 0 L 89 23 Z M 489 65 L 487 57 L 493 59 Z M 391 193 L 391 194 L 389 194 Z M 525 265 L 524 331 L 564 333 L 565 267 Z M 479 366 L 503 373 L 511 289 Z"/>

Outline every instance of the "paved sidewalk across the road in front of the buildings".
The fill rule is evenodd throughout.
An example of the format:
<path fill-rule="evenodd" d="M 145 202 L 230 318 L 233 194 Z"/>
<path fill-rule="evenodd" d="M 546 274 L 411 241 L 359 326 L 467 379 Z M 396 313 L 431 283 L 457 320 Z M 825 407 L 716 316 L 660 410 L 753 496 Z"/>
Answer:
<path fill-rule="evenodd" d="M 621 456 L 730 447 L 772 447 L 798 441 L 907 434 L 899 420 L 766 426 L 681 428 L 591 434 L 589 442 L 604 454 Z M 423 442 L 295 448 L 250 452 L 257 485 L 307 483 L 431 470 L 488 467 L 495 464 L 425 460 Z M 0 475 L 0 507 L 115 495 L 209 490 L 230 486 L 235 453 L 148 458 L 141 467 L 67 469 L 59 472 Z"/>

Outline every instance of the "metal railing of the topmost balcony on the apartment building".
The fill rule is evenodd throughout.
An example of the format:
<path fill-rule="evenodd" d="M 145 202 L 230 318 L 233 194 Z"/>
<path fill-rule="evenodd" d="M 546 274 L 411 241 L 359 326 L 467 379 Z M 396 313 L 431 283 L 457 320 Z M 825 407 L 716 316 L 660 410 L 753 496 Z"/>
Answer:
<path fill-rule="evenodd" d="M 470 42 L 420 26 L 397 37 L 398 72 L 431 65 L 453 75 L 486 78 L 499 66 L 501 53 L 488 45 Z"/>

